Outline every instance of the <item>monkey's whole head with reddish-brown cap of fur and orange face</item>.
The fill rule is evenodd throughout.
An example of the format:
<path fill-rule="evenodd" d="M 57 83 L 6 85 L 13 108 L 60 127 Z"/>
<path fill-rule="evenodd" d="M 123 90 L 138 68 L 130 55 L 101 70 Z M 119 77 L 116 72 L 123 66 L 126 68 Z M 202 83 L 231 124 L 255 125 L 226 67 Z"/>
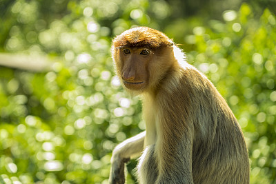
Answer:
<path fill-rule="evenodd" d="M 112 59 L 119 79 L 130 91 L 156 88 L 173 64 L 174 43 L 147 27 L 126 30 L 112 41 Z"/>

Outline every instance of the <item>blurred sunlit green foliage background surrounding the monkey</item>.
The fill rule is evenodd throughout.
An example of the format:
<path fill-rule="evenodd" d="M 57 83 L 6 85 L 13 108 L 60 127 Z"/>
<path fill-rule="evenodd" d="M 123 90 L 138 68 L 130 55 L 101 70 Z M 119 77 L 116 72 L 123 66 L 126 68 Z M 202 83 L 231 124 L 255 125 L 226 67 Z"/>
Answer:
<path fill-rule="evenodd" d="M 275 184 L 275 12 L 275 0 L 0 0 L 0 183 L 108 183 L 112 149 L 145 129 L 110 42 L 147 25 L 179 43 L 230 105 L 250 183 Z"/>

